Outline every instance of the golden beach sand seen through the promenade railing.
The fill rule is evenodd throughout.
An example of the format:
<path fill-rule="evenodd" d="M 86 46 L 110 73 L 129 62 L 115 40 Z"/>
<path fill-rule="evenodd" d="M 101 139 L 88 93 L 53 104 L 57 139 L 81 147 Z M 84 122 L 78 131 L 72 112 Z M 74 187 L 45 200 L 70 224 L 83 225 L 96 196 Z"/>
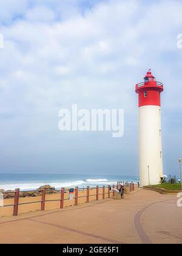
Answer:
<path fill-rule="evenodd" d="M 108 198 L 107 194 L 107 187 L 105 188 L 105 198 Z M 103 189 L 99 188 L 99 200 L 103 199 Z M 87 190 L 81 190 L 78 191 L 78 197 L 80 196 L 81 198 L 78 198 L 78 204 L 84 204 L 86 203 L 86 194 Z M 96 200 L 96 188 L 90 189 L 90 196 L 89 196 L 89 201 L 94 201 Z M 110 197 L 112 197 L 112 192 L 110 193 Z M 74 193 L 75 197 L 75 193 Z M 46 194 L 45 200 L 60 200 L 61 194 Z M 75 204 L 75 200 L 68 200 L 69 199 L 69 192 L 64 194 L 64 207 L 70 207 Z M 36 196 L 36 197 L 20 197 L 19 198 L 19 204 L 23 203 L 30 203 L 30 202 L 36 202 L 36 201 L 41 201 L 41 196 Z M 12 199 L 4 199 L 4 205 L 12 205 L 14 204 L 14 198 Z M 60 208 L 60 202 L 55 201 L 55 202 L 45 202 L 45 210 L 55 210 Z M 41 202 L 36 202 L 34 204 L 26 204 L 26 205 L 19 205 L 18 207 L 18 215 L 21 213 L 27 213 L 27 212 L 34 212 L 37 210 L 41 209 Z M 11 216 L 13 215 L 13 206 L 10 207 L 0 207 L 0 217 L 2 216 Z"/>

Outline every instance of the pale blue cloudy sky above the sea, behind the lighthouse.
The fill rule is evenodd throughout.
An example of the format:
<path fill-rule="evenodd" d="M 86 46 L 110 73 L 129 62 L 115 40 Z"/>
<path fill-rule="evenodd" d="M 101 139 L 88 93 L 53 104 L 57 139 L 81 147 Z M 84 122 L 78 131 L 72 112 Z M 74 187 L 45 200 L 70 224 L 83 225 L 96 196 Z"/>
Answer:
<path fill-rule="evenodd" d="M 164 174 L 182 157 L 182 1 L 0 0 L 0 172 L 138 175 L 138 98 L 161 95 Z M 61 108 L 123 108 L 124 136 L 60 132 Z"/>

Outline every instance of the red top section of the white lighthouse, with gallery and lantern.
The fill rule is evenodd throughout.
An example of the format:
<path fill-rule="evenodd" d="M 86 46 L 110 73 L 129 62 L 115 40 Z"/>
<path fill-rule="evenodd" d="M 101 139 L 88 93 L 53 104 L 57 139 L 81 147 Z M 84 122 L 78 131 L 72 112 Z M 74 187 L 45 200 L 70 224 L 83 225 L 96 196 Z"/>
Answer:
<path fill-rule="evenodd" d="M 138 106 L 144 105 L 161 105 L 160 93 L 163 91 L 163 84 L 157 82 L 155 77 L 149 71 L 144 77 L 144 82 L 136 85 L 136 93 L 138 93 Z"/>

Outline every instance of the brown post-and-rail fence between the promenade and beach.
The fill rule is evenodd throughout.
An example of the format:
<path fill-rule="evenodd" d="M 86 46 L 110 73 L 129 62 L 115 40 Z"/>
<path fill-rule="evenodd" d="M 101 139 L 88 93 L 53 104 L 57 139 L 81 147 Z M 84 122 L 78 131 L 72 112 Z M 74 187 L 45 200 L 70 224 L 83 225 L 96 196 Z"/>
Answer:
<path fill-rule="evenodd" d="M 110 197 L 115 197 L 115 193 L 116 190 L 118 190 L 120 186 L 120 182 L 117 182 L 117 185 L 112 185 L 112 187 L 110 185 L 108 185 L 107 187 L 105 185 L 103 185 L 103 187 L 89 187 L 87 186 L 87 188 L 78 188 L 75 187 L 73 189 L 73 197 L 72 200 L 74 201 L 74 205 L 78 205 L 78 199 L 79 198 L 86 198 L 86 203 L 90 202 L 90 197 L 95 197 L 96 201 L 99 201 L 99 196 L 102 196 L 102 199 L 106 199 L 106 198 L 110 198 Z M 135 184 L 132 183 L 125 183 L 124 185 L 124 191 L 125 193 L 127 193 L 127 191 L 131 192 L 135 189 Z M 79 195 L 79 191 L 84 191 L 86 190 L 86 194 L 83 196 Z M 95 190 L 94 194 L 90 194 L 90 191 Z M 99 190 L 101 190 L 101 192 L 99 192 Z M 19 198 L 20 198 L 20 193 L 21 192 L 41 192 L 41 200 L 36 200 L 36 201 L 32 201 L 32 202 L 19 202 Z M 14 194 L 14 203 L 13 204 L 7 204 L 7 205 L 2 205 L 0 207 L 4 208 L 4 207 L 13 207 L 13 216 L 17 216 L 18 215 L 18 208 L 19 205 L 28 205 L 28 204 L 40 204 L 40 210 L 44 211 L 45 210 L 45 203 L 47 202 L 59 202 L 59 208 L 63 209 L 64 208 L 64 201 L 68 201 L 71 200 L 69 197 L 66 198 L 65 194 L 67 194 L 67 192 L 69 192 L 70 189 L 65 189 L 65 188 L 61 188 L 61 190 L 49 190 L 49 189 L 45 189 L 42 188 L 42 190 L 31 190 L 31 191 L 20 191 L 19 188 L 16 188 L 15 191 L 6 191 L 6 192 L 2 192 L 2 194 Z M 46 196 L 51 194 L 59 194 L 59 199 L 46 199 Z M 107 195 L 107 196 L 106 196 Z"/>

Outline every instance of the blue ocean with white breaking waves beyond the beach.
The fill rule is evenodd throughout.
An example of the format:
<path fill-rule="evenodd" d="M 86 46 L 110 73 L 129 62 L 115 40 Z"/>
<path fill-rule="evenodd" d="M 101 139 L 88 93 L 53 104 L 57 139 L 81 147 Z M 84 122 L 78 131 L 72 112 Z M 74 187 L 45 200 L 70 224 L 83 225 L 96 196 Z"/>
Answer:
<path fill-rule="evenodd" d="M 109 175 L 89 175 L 89 174 L 1 174 L 0 189 L 4 190 L 36 190 L 42 185 L 49 184 L 56 189 L 65 188 L 85 188 L 87 186 L 96 187 L 103 185 L 116 185 L 117 181 L 138 182 L 135 176 L 109 176 Z"/>

